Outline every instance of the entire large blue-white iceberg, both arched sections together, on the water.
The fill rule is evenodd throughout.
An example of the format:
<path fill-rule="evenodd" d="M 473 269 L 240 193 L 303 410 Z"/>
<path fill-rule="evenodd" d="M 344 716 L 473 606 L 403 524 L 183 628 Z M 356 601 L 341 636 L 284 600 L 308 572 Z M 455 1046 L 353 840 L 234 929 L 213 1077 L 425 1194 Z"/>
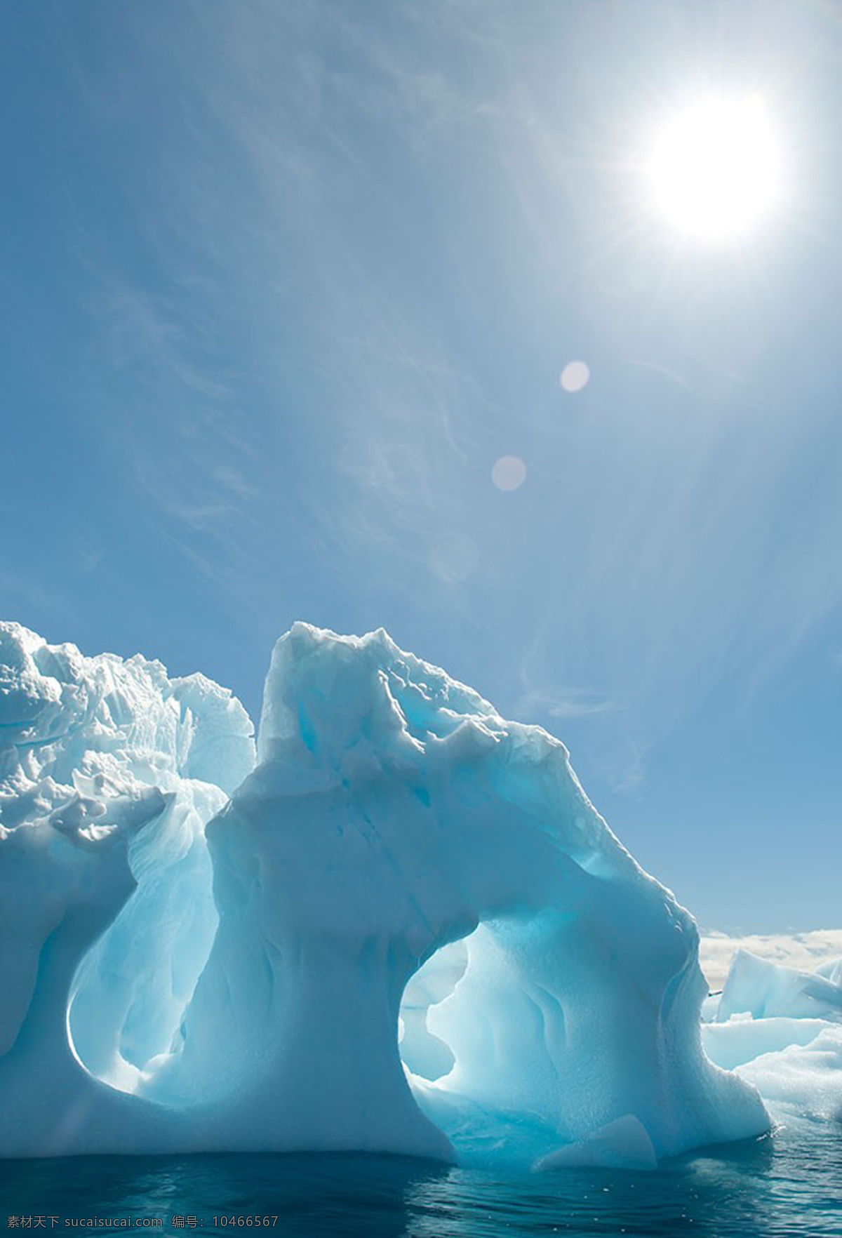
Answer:
<path fill-rule="evenodd" d="M 563 744 L 385 631 L 239 702 L 0 625 L 0 1151 L 654 1167 L 769 1125 Z"/>

